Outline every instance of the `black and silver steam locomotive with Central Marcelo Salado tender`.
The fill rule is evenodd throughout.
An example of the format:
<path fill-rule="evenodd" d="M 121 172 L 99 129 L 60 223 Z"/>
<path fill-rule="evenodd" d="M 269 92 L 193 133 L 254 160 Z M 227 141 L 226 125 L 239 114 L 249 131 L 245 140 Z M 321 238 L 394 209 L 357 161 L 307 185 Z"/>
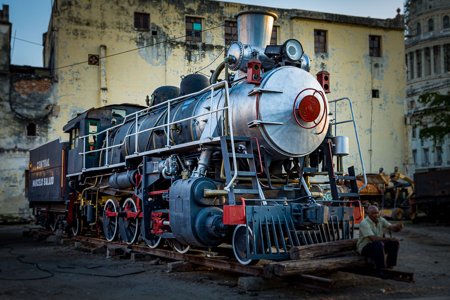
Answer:
<path fill-rule="evenodd" d="M 236 17 L 240 41 L 210 78 L 159 87 L 146 106 L 91 108 L 63 127 L 68 141 L 30 150 L 37 223 L 181 253 L 232 248 L 242 264 L 353 236 L 361 206 L 348 138 L 331 134 L 329 73 L 309 74 L 295 39 L 267 45 L 276 14 Z"/>

